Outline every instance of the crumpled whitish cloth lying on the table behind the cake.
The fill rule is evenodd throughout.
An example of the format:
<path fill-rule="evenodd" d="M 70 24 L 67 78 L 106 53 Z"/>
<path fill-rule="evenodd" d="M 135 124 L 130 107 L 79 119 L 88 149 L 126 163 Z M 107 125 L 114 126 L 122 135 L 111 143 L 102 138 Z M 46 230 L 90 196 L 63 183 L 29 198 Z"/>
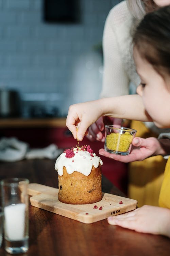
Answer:
<path fill-rule="evenodd" d="M 14 162 L 26 159 L 55 159 L 63 152 L 55 144 L 45 148 L 30 149 L 29 144 L 17 138 L 3 137 L 0 140 L 0 161 Z"/>

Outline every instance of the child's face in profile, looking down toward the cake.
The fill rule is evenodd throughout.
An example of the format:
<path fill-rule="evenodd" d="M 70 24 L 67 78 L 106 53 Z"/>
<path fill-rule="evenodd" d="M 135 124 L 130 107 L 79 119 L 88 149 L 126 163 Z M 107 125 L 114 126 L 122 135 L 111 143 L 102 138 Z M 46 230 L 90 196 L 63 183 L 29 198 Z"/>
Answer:
<path fill-rule="evenodd" d="M 153 66 L 141 58 L 134 47 L 134 61 L 141 79 L 137 94 L 142 97 L 147 113 L 159 128 L 170 127 L 170 76 L 162 77 Z"/>

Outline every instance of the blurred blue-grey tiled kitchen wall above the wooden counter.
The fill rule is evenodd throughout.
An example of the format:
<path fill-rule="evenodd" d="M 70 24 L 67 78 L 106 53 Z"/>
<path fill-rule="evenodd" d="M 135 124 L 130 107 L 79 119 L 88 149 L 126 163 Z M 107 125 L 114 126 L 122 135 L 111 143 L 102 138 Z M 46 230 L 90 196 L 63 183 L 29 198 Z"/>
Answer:
<path fill-rule="evenodd" d="M 104 22 L 119 2 L 0 0 L 1 116 L 66 116 L 70 104 L 99 98 Z"/>

